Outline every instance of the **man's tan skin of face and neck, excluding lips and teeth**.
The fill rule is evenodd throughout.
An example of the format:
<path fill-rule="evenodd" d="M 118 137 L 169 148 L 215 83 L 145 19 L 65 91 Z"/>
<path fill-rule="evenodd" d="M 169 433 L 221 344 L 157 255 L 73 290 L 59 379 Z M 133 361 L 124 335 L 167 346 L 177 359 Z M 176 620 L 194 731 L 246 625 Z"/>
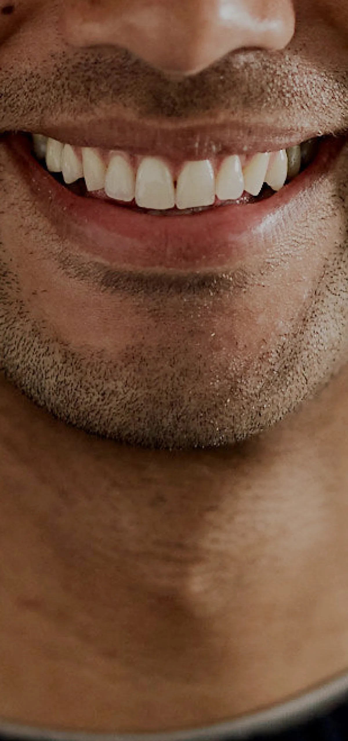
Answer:
<path fill-rule="evenodd" d="M 347 129 L 344 0 L 220 10 L 19 0 L 0 129 Z M 0 141 L 4 720 L 188 728 L 347 671 L 347 171 L 262 256 L 169 279 L 76 255 Z"/>

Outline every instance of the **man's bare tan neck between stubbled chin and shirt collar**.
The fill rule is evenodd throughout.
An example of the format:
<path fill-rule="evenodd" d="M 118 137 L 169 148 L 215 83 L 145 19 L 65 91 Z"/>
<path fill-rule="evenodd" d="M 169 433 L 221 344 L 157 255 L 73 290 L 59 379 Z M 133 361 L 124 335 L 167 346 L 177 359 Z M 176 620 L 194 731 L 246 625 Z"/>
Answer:
<path fill-rule="evenodd" d="M 347 385 L 233 449 L 168 453 L 1 377 L 0 717 L 174 730 L 347 671 Z"/>

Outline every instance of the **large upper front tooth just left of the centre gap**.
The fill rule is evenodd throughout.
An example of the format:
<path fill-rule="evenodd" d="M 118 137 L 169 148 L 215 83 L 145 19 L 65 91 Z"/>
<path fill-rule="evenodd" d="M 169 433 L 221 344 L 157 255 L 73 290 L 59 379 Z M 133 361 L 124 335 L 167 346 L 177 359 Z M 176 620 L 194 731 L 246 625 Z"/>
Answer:
<path fill-rule="evenodd" d="M 135 200 L 142 208 L 174 208 L 175 190 L 168 166 L 157 157 L 145 157 L 139 165 Z"/>

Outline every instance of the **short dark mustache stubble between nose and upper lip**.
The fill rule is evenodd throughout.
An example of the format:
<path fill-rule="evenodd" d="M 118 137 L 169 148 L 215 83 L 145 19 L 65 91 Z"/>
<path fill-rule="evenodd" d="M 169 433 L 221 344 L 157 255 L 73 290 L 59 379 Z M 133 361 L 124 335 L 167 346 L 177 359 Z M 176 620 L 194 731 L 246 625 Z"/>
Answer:
<path fill-rule="evenodd" d="M 0 132 L 37 130 L 58 115 L 108 116 L 116 107 L 146 122 L 231 120 L 247 130 L 257 113 L 265 125 L 301 130 L 306 121 L 341 133 L 348 62 L 325 59 L 322 67 L 318 59 L 303 53 L 300 38 L 285 52 L 233 53 L 197 76 L 171 79 L 116 47 L 51 53 L 39 65 L 28 59 L 25 72 L 0 67 Z"/>

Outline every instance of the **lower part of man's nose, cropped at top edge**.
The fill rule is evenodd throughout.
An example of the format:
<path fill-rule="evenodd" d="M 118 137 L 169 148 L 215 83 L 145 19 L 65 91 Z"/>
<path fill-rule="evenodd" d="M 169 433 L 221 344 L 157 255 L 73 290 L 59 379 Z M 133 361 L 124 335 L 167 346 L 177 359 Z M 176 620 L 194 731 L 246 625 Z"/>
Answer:
<path fill-rule="evenodd" d="M 116 45 L 165 73 L 193 75 L 235 50 L 280 50 L 295 30 L 292 0 L 66 0 L 77 47 Z"/>

